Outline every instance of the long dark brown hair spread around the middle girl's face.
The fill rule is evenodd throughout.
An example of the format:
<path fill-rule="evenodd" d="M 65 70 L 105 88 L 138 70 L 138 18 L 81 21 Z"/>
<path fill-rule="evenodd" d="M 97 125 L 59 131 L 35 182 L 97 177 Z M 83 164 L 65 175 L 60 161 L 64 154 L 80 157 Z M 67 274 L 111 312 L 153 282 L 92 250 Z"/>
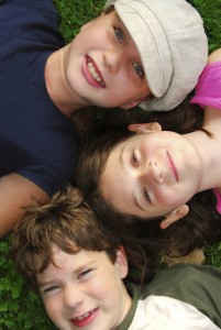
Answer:
<path fill-rule="evenodd" d="M 154 111 L 135 114 L 121 112 L 118 109 L 111 113 L 111 117 L 108 114 L 101 118 L 85 136 L 77 170 L 78 186 L 85 191 L 90 206 L 100 217 L 108 213 L 109 226 L 114 227 L 117 232 L 121 231 L 121 234 L 126 230 L 130 231 L 129 228 L 133 228 L 135 222 L 140 223 L 142 228 L 140 234 L 146 235 L 150 239 L 148 244 L 153 243 L 155 251 L 158 250 L 159 253 L 169 254 L 174 251 L 172 242 L 178 246 L 177 253 L 185 255 L 195 248 L 201 248 L 206 242 L 220 240 L 221 224 L 219 224 L 220 221 L 214 220 L 214 199 L 211 191 L 197 194 L 188 202 L 189 213 L 183 220 L 169 226 L 167 230 L 161 230 L 159 221 L 163 220 L 163 217 L 144 221 L 145 219 L 119 212 L 102 197 L 99 187 L 110 152 L 119 142 L 134 134 L 128 130 L 130 123 L 157 121 L 164 130 L 184 134 L 199 130 L 202 127 L 202 120 L 201 109 L 185 102 L 170 112 Z M 108 221 L 106 221 L 107 224 Z"/>

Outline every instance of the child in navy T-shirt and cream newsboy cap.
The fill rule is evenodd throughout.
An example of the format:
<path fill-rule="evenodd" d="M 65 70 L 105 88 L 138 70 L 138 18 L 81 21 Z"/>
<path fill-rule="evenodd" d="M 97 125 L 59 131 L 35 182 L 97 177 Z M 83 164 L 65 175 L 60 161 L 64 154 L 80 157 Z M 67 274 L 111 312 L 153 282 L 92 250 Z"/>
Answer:
<path fill-rule="evenodd" d="M 78 109 L 173 109 L 206 65 L 202 20 L 185 0 L 108 2 L 66 46 L 58 22 L 52 0 L 0 2 L 0 237 L 32 197 L 73 182 Z"/>

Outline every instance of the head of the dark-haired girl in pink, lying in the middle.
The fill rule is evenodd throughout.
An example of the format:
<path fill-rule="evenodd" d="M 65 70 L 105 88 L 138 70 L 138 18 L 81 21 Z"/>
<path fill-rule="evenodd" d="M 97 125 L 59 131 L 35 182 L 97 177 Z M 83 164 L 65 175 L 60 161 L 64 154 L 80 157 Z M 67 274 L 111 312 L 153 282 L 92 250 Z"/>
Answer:
<path fill-rule="evenodd" d="M 181 110 L 185 112 L 178 108 L 176 113 Z M 187 215 L 186 202 L 197 193 L 200 174 L 196 151 L 183 135 L 164 132 L 158 123 L 130 125 L 134 132 L 128 124 L 117 116 L 93 130 L 90 141 L 96 136 L 95 145 L 86 143 L 82 148 L 78 184 L 123 213 L 143 219 L 161 217 L 165 219 L 162 228 L 166 228 Z"/>

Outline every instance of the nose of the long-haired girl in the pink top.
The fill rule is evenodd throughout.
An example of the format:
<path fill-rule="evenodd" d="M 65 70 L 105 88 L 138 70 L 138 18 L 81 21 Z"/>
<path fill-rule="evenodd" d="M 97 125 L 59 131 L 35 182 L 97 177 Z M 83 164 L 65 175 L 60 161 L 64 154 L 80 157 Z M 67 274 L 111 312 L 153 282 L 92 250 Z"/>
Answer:
<path fill-rule="evenodd" d="M 150 183 L 163 184 L 163 174 L 155 161 L 148 161 L 147 166 L 142 168 L 141 179 L 144 180 L 146 185 Z"/>

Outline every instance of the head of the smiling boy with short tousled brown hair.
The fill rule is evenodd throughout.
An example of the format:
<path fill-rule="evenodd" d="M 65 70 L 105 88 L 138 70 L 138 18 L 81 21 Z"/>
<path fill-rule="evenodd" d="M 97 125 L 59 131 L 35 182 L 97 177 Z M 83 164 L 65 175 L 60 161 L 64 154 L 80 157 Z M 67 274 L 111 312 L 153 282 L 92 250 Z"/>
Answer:
<path fill-rule="evenodd" d="M 77 189 L 30 208 L 11 252 L 59 329 L 112 329 L 125 317 L 131 298 L 121 240 L 97 222 Z"/>

